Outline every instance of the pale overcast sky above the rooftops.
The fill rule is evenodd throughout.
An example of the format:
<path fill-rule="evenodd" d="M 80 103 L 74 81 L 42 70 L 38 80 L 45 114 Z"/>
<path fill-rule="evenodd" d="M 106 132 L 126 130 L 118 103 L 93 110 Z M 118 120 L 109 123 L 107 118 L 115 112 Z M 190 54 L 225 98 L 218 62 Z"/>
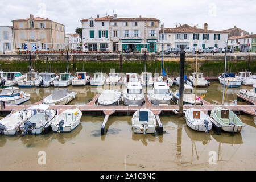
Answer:
<path fill-rule="evenodd" d="M 249 33 L 256 33 L 255 0 L 9 0 L 0 6 L 0 26 L 11 26 L 11 20 L 29 18 L 34 14 L 62 23 L 66 33 L 73 33 L 75 28 L 81 27 L 82 18 L 113 15 L 113 10 L 119 18 L 155 17 L 168 28 L 174 28 L 176 23 L 198 24 L 198 28 L 203 28 L 207 22 L 210 30 L 225 30 L 236 25 Z"/>

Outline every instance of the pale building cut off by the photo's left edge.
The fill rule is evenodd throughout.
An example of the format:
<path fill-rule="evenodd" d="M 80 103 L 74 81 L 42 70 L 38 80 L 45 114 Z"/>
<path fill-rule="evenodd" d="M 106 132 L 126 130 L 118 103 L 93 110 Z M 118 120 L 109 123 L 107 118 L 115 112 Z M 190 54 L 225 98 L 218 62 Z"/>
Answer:
<path fill-rule="evenodd" d="M 0 26 L 0 52 L 13 52 L 13 28 Z"/>

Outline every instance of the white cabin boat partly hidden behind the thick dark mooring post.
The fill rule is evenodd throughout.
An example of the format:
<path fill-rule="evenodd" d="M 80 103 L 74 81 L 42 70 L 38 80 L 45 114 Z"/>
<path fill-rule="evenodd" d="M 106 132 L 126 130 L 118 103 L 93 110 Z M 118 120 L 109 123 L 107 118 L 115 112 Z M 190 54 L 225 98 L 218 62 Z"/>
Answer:
<path fill-rule="evenodd" d="M 185 84 L 184 85 L 184 92 L 183 92 L 183 105 L 189 104 L 189 105 L 195 105 L 195 94 L 192 93 L 193 87 L 190 85 Z M 179 103 L 179 90 L 176 90 L 175 92 L 172 92 L 172 100 L 178 104 Z M 197 96 L 198 97 L 198 96 Z M 196 100 L 196 105 L 201 105 L 200 100 Z"/>

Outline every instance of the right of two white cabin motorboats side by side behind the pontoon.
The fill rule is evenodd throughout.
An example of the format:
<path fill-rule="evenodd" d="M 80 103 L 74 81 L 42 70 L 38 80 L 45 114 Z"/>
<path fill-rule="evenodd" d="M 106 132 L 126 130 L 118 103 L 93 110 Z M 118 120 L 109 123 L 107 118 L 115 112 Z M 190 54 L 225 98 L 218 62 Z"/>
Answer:
<path fill-rule="evenodd" d="M 172 99 L 169 89 L 166 82 L 155 82 L 153 89 L 147 91 L 147 98 L 154 105 L 169 104 Z"/>

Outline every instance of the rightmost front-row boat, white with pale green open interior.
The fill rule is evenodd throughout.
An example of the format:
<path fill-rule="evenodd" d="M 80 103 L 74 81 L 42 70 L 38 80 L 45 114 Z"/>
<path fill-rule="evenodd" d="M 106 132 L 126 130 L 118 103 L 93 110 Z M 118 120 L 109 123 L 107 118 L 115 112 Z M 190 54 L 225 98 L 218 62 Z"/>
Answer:
<path fill-rule="evenodd" d="M 221 126 L 221 129 L 227 132 L 240 132 L 245 127 L 240 118 L 232 110 L 224 107 L 214 107 L 210 117 Z"/>

